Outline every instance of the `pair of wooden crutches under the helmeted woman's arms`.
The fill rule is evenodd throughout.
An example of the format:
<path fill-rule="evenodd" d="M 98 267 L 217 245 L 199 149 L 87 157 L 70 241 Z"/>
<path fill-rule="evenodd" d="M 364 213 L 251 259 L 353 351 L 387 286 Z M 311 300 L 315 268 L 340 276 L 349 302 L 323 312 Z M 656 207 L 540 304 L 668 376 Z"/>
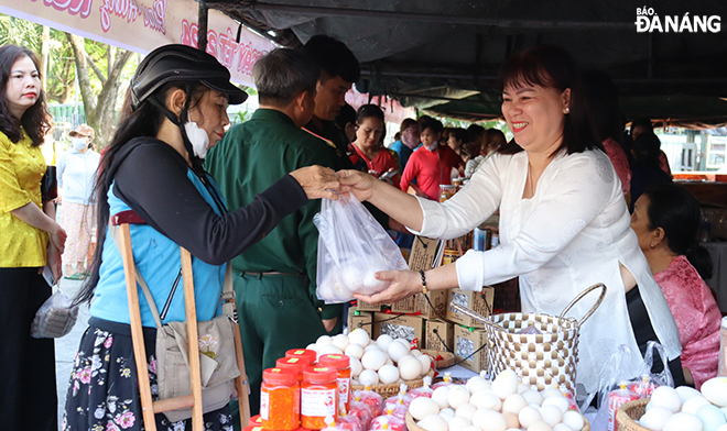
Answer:
<path fill-rule="evenodd" d="M 127 280 L 127 296 L 129 299 L 129 312 L 131 314 L 131 340 L 133 342 L 133 355 L 137 363 L 137 375 L 139 378 L 139 391 L 141 395 L 141 407 L 147 431 L 156 431 L 155 413 L 164 411 L 192 408 L 192 430 L 203 431 L 205 429 L 203 421 L 202 405 L 202 378 L 199 374 L 199 345 L 196 342 L 197 335 L 197 311 L 194 298 L 194 283 L 192 278 L 192 256 L 183 247 L 182 252 L 182 278 L 184 284 L 184 307 L 187 319 L 187 343 L 189 345 L 189 380 L 192 394 L 160 399 L 152 401 L 151 386 L 149 383 L 149 371 L 147 363 L 147 351 L 144 347 L 144 336 L 141 327 L 141 311 L 139 309 L 139 292 L 137 290 L 135 268 L 133 263 L 133 253 L 131 251 L 131 234 L 129 223 L 119 223 L 121 257 L 123 259 L 123 275 Z M 235 298 L 226 298 L 235 307 Z M 237 321 L 234 325 L 235 331 L 235 353 L 237 365 L 240 369 L 240 376 L 235 379 L 235 387 L 238 394 L 240 406 L 240 423 L 248 423 L 250 419 L 249 384 L 245 371 L 245 360 L 242 356 L 242 340 Z"/>

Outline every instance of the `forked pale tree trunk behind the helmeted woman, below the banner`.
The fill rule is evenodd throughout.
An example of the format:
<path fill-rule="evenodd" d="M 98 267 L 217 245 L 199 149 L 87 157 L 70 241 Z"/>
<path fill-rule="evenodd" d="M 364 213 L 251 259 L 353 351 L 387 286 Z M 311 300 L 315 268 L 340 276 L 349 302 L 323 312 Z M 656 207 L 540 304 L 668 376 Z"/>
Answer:
<path fill-rule="evenodd" d="M 119 88 L 121 87 L 121 79 L 119 77 L 129 58 L 131 58 L 132 53 L 130 51 L 118 49 L 111 45 L 99 46 L 70 33 L 66 33 L 66 36 L 74 53 L 78 89 L 84 101 L 86 122 L 96 131 L 95 141 L 102 148 L 106 146 L 108 136 L 111 135 L 116 122 L 116 103 L 119 96 Z M 89 43 L 89 47 L 97 55 L 99 49 L 102 53 L 101 58 L 106 64 L 101 66 L 105 66 L 106 74 L 101 69 L 101 66 L 97 65 L 97 63 L 101 63 L 100 58 L 97 57 L 95 59 L 86 49 L 87 43 Z M 98 81 L 100 81 L 100 91 L 95 91 L 91 86 L 91 70 Z"/>

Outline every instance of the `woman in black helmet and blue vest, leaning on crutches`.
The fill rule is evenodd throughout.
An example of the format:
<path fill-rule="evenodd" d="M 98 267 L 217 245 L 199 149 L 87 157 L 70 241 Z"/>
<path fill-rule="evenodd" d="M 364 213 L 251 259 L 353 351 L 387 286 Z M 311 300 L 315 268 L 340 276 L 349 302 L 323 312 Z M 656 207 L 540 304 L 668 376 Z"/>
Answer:
<path fill-rule="evenodd" d="M 122 117 L 101 158 L 98 226 L 108 226 L 110 217 L 134 223 L 134 263 L 163 323 L 185 320 L 180 246 L 192 254 L 197 318 L 210 320 L 218 314 L 226 262 L 307 199 L 336 198 L 327 191 L 338 188 L 334 172 L 311 166 L 284 176 L 247 207 L 226 211 L 202 159 L 225 134 L 228 102 L 246 99 L 211 55 L 184 45 L 159 47 L 131 79 Z M 108 228 L 98 230 L 98 245 L 91 275 L 76 298 L 90 302 L 91 318 L 74 362 L 62 429 L 139 430 L 143 420 L 123 263 Z M 143 297 L 140 302 L 155 397 L 155 323 Z M 207 430 L 232 429 L 229 407 L 205 413 L 204 421 Z M 156 415 L 159 430 L 185 426 Z"/>

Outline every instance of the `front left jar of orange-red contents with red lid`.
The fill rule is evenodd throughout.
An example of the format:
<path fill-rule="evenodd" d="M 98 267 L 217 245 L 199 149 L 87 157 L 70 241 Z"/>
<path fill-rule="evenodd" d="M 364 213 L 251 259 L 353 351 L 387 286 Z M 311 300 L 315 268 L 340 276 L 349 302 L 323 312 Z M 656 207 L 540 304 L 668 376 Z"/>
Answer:
<path fill-rule="evenodd" d="M 260 418 L 265 430 L 293 431 L 301 422 L 297 374 L 281 368 L 262 372 Z"/>

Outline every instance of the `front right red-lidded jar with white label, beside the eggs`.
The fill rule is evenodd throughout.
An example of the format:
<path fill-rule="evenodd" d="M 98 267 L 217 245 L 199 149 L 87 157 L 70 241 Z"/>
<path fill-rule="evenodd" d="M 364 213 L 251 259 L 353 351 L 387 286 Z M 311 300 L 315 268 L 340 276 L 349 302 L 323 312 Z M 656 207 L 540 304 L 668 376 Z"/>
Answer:
<path fill-rule="evenodd" d="M 308 368 L 301 386 L 301 427 L 308 430 L 326 428 L 326 417 L 338 415 L 338 382 L 336 369 Z"/>

